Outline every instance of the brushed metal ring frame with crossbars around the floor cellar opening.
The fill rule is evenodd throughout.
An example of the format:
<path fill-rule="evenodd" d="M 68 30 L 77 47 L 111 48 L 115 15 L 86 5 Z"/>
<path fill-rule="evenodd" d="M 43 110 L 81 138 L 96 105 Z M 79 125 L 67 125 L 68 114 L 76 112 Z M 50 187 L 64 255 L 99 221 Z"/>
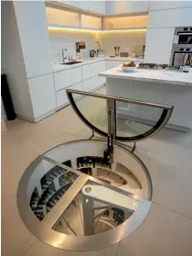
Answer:
<path fill-rule="evenodd" d="M 59 147 L 69 145 L 71 143 L 78 143 L 78 142 L 97 142 L 97 143 L 105 143 L 103 140 L 98 139 L 80 139 L 80 140 L 73 140 L 69 141 L 67 143 L 62 143 L 59 146 L 51 149 L 56 150 Z M 122 145 L 116 144 L 117 147 L 121 147 L 123 150 L 126 150 L 128 154 L 132 155 L 135 161 L 139 162 L 139 164 L 142 165 L 144 169 L 144 173 L 146 175 L 146 179 L 148 181 L 149 185 L 149 200 L 151 200 L 152 196 L 152 183 L 150 175 L 143 163 L 135 154 L 133 154 L 130 150 L 123 147 Z M 64 212 L 65 208 L 69 206 L 69 202 L 66 202 L 66 197 L 60 198 L 60 203 L 57 204 L 52 208 L 52 210 L 48 213 L 48 215 L 39 222 L 33 212 L 31 211 L 28 202 L 28 195 L 27 195 L 27 184 L 29 183 L 29 180 L 31 178 L 31 174 L 34 172 L 34 168 L 37 166 L 37 164 L 42 161 L 46 160 L 48 161 L 48 152 L 51 150 L 46 151 L 44 154 L 37 157 L 36 160 L 34 160 L 28 167 L 27 171 L 23 174 L 18 190 L 17 190 L 17 206 L 19 210 L 20 217 L 22 218 L 23 222 L 31 231 L 37 239 L 40 239 L 49 245 L 62 249 L 62 250 L 98 250 L 107 246 L 110 246 L 112 244 L 115 244 L 122 239 L 125 239 L 127 236 L 133 233 L 133 231 L 138 228 L 142 222 L 144 221 L 146 215 L 148 214 L 150 207 L 152 205 L 152 202 L 147 199 L 139 198 L 137 195 L 133 195 L 131 193 L 128 193 L 126 191 L 123 191 L 124 195 L 128 195 L 133 197 L 135 200 L 139 200 L 140 204 L 138 208 L 133 212 L 133 215 L 129 217 L 127 220 L 123 222 L 123 224 L 119 225 L 116 228 L 113 228 L 111 230 L 108 230 L 106 232 L 91 235 L 91 236 L 69 236 L 63 233 L 59 233 L 58 231 L 55 231 L 52 229 L 54 225 L 56 224 L 56 220 L 59 219 L 61 214 Z M 53 163 L 54 160 L 50 161 Z M 66 167 L 65 165 L 59 163 L 59 166 L 63 166 L 64 168 L 68 169 L 69 171 L 71 168 Z M 97 179 L 88 176 L 86 174 L 80 173 L 78 171 L 73 170 L 74 173 L 78 173 L 80 177 L 74 182 L 74 184 L 71 185 L 71 189 L 69 189 L 69 196 L 72 196 L 73 198 L 77 195 L 78 191 L 80 191 L 80 188 L 82 185 L 86 184 L 88 180 L 91 181 L 97 181 L 99 184 L 104 184 L 105 186 L 111 187 L 112 189 L 115 189 L 116 191 L 121 191 L 117 187 L 112 187 L 109 184 L 105 184 L 101 181 L 98 181 Z M 68 191 L 66 192 L 68 193 Z M 72 194 L 72 195 L 71 195 Z M 67 199 L 68 201 L 68 199 Z M 71 201 L 70 201 L 71 202 Z"/>

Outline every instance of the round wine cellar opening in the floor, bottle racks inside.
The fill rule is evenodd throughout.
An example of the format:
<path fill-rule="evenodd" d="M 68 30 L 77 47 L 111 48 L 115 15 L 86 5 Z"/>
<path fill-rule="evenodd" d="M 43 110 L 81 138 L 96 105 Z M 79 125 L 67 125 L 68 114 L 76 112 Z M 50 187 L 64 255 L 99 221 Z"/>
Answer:
<path fill-rule="evenodd" d="M 97 250 L 142 224 L 152 197 L 144 162 L 115 145 L 110 163 L 105 149 L 101 140 L 71 141 L 28 166 L 17 205 L 37 239 L 63 250 Z"/>

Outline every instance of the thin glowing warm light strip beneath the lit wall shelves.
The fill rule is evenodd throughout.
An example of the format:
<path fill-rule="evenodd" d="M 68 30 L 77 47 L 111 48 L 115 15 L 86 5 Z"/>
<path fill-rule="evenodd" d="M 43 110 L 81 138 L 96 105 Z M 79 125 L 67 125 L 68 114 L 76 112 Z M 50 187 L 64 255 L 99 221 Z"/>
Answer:
<path fill-rule="evenodd" d="M 58 28 L 58 27 L 48 27 L 48 30 L 63 30 L 71 32 L 82 32 L 82 33 L 130 33 L 130 32 L 142 32 L 146 31 L 146 28 L 127 28 L 127 29 L 116 29 L 116 30 L 94 30 L 94 29 L 84 29 L 84 28 Z"/>

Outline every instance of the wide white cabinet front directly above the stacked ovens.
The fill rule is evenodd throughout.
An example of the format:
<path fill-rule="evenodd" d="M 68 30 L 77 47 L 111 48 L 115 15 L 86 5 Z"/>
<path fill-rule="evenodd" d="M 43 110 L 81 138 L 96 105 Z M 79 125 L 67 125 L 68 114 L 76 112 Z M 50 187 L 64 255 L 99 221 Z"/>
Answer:
<path fill-rule="evenodd" d="M 148 28 L 190 27 L 192 7 L 149 12 Z"/>

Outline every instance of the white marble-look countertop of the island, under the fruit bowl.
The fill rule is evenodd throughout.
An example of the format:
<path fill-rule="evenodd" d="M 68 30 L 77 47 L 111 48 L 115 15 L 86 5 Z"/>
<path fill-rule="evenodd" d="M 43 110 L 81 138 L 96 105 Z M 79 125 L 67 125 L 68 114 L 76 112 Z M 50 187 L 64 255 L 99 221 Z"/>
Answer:
<path fill-rule="evenodd" d="M 135 69 L 135 72 L 123 72 L 121 67 L 115 67 L 108 71 L 100 72 L 99 76 L 192 86 L 192 69 L 190 69 L 190 72 L 187 73 L 163 69 Z"/>

